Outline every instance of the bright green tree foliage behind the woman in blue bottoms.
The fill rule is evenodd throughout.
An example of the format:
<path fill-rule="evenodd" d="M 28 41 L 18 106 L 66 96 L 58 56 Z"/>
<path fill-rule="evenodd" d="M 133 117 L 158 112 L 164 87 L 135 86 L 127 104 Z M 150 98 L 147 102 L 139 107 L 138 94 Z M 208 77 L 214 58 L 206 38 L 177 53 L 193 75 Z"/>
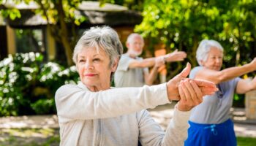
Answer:
<path fill-rule="evenodd" d="M 146 0 L 135 31 L 167 52 L 186 51 L 193 66 L 200 40 L 215 39 L 225 48 L 224 66 L 241 65 L 256 55 L 255 12 L 255 0 Z"/>

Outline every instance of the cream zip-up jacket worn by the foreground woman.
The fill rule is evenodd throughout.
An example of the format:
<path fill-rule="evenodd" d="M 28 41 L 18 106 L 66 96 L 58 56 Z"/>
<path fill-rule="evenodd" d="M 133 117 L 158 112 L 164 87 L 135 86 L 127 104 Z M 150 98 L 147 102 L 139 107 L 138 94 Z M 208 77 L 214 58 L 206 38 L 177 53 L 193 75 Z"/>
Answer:
<path fill-rule="evenodd" d="M 147 108 L 167 104 L 166 84 L 91 92 L 83 83 L 56 91 L 60 145 L 184 145 L 190 112 L 174 110 L 166 131 Z"/>

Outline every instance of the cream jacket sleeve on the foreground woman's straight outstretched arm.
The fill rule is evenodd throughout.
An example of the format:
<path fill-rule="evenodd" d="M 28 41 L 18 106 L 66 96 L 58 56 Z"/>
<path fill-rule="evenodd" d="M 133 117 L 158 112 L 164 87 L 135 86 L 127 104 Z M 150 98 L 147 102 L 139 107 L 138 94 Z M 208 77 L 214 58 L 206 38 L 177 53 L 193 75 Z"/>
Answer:
<path fill-rule="evenodd" d="M 166 84 L 99 92 L 91 92 L 78 85 L 63 85 L 56 91 L 55 101 L 59 123 L 112 118 L 170 103 Z"/>

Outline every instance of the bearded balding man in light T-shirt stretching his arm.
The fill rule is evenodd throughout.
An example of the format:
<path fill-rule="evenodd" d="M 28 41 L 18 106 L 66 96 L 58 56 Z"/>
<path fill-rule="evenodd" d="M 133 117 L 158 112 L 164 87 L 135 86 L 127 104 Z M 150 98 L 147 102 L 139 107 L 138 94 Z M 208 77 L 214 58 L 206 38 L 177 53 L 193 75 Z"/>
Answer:
<path fill-rule="evenodd" d="M 152 85 L 157 78 L 159 66 L 165 62 L 183 61 L 187 54 L 183 51 L 174 51 L 167 55 L 154 58 L 138 57 L 143 52 L 144 40 L 140 34 L 130 34 L 127 38 L 127 53 L 121 55 L 121 59 L 116 70 L 114 81 L 116 87 L 140 87 Z M 148 72 L 148 67 L 153 67 Z"/>

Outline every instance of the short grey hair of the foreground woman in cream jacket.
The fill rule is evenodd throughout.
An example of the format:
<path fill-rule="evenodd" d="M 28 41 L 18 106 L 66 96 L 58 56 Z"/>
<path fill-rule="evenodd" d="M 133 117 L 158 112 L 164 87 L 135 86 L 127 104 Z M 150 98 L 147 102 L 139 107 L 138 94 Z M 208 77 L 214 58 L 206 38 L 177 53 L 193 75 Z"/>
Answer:
<path fill-rule="evenodd" d="M 91 27 L 89 30 L 83 32 L 83 36 L 80 37 L 77 45 L 75 45 L 72 56 L 75 64 L 78 61 L 78 53 L 89 47 L 95 47 L 97 51 L 104 50 L 110 57 L 110 66 L 123 53 L 123 45 L 121 45 L 118 34 L 109 26 Z"/>

